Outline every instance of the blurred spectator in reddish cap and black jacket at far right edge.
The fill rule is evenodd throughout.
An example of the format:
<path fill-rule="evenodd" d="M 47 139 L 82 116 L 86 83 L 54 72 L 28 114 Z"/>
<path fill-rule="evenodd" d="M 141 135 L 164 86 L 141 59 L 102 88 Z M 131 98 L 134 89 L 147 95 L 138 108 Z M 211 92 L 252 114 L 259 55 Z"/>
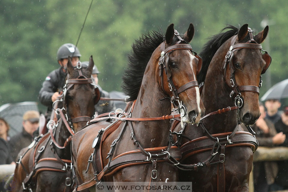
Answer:
<path fill-rule="evenodd" d="M 283 132 L 286 136 L 288 135 L 288 106 L 284 107 L 281 119 L 275 123 L 277 132 Z M 288 146 L 288 138 L 281 146 Z M 273 190 L 285 190 L 288 189 L 288 161 L 278 161 L 279 173 L 275 179 Z"/>

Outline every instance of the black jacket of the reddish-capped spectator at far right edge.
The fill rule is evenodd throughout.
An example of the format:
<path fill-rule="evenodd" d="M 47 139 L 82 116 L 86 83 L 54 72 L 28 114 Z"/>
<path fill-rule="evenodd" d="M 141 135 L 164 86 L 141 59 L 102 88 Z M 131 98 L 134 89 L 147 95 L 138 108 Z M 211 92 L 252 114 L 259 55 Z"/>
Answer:
<path fill-rule="evenodd" d="M 282 143 L 280 146 L 288 146 L 288 126 L 285 125 L 282 122 L 282 119 L 280 119 L 278 122 L 275 123 L 276 131 L 283 132 L 283 134 L 286 134 L 286 139 L 284 143 Z M 279 173 L 275 180 L 275 183 L 284 186 L 285 189 L 288 188 L 288 161 L 278 161 L 278 167 L 279 167 Z"/>

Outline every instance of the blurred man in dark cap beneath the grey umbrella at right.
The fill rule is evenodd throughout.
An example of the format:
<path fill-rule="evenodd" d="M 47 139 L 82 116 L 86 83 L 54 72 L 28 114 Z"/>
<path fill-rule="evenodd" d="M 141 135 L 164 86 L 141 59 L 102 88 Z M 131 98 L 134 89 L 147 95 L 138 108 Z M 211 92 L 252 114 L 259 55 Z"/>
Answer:
<path fill-rule="evenodd" d="M 278 109 L 281 107 L 281 103 L 278 99 L 270 99 L 265 101 L 265 107 L 267 109 L 266 118 L 275 124 L 281 116 Z"/>

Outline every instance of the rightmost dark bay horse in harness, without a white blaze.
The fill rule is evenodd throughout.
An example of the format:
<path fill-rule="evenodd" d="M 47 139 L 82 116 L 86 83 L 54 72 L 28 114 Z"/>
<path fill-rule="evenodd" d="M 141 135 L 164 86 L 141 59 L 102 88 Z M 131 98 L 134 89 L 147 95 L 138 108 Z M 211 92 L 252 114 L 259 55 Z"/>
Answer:
<path fill-rule="evenodd" d="M 260 116 L 261 74 L 271 63 L 270 55 L 261 53 L 268 26 L 255 36 L 247 24 L 222 31 L 226 29 L 201 52 L 203 67 L 197 79 L 199 84 L 204 82 L 201 99 L 206 116 L 198 127 L 187 125 L 183 130 L 178 125 L 174 130 L 180 135 L 182 130 L 185 136 L 179 143 L 181 163 L 195 163 L 194 170 L 180 171 L 180 181 L 192 182 L 194 192 L 248 192 L 253 151 L 258 146 L 249 125 Z M 243 132 L 247 129 L 241 122 L 250 133 Z"/>

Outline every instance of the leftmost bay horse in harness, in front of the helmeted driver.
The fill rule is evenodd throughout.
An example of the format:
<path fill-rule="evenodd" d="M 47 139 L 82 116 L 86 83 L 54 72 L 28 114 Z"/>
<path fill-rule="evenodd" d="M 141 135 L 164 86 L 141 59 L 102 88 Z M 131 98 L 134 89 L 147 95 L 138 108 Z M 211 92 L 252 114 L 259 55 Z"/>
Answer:
<path fill-rule="evenodd" d="M 92 56 L 87 68 L 82 68 L 78 62 L 74 69 L 68 58 L 63 100 L 53 103 L 51 120 L 47 124 L 50 134 L 39 136 L 20 152 L 14 191 L 72 191 L 71 136 L 91 119 L 94 115 L 91 104 L 97 104 L 100 99 L 98 87 L 92 84 L 93 66 Z M 55 107 L 57 104 L 59 108 Z M 52 120 L 54 110 L 61 117 L 56 125 Z"/>

